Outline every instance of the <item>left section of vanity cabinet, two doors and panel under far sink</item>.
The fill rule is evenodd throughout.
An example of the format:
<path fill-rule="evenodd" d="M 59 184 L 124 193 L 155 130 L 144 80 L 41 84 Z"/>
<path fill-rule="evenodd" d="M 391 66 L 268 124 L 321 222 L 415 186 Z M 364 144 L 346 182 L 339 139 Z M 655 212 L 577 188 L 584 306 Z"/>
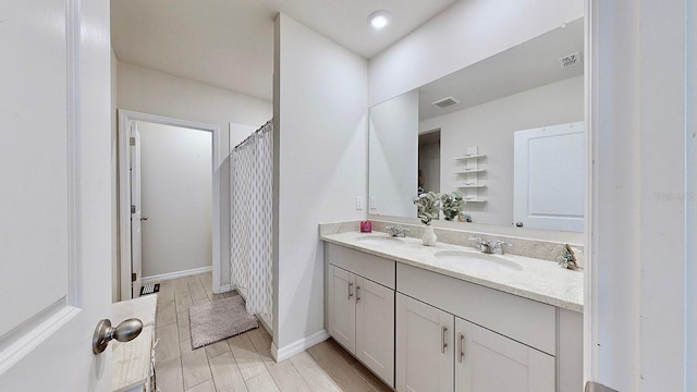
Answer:
<path fill-rule="evenodd" d="M 394 261 L 340 246 L 328 253 L 329 333 L 394 387 Z"/>

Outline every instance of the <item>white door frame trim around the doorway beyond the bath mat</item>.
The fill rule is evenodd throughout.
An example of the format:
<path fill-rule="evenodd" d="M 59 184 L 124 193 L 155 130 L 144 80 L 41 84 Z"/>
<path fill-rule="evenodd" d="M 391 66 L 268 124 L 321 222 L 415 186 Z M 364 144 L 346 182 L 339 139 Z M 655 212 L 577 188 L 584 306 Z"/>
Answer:
<path fill-rule="evenodd" d="M 220 127 L 218 125 L 174 119 L 133 110 L 118 109 L 119 113 L 119 269 L 121 272 L 121 301 L 131 299 L 131 181 L 129 173 L 129 135 L 131 121 L 144 121 L 161 125 L 187 127 L 212 134 L 212 283 L 213 292 L 220 292 Z"/>

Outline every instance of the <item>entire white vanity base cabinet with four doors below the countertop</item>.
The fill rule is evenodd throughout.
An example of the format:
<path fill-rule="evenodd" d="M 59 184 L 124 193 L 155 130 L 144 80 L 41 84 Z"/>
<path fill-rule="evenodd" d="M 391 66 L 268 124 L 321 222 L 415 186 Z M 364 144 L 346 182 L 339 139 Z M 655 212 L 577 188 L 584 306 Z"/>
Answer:
<path fill-rule="evenodd" d="M 582 390 L 583 314 L 401 257 L 325 252 L 329 333 L 396 391 Z"/>

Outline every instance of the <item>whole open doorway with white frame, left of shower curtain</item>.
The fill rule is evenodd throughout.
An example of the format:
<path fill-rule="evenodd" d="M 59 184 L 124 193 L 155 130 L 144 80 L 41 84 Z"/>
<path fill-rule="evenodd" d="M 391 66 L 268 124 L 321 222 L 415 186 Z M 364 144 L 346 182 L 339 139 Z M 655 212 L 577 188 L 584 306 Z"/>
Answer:
<path fill-rule="evenodd" d="M 216 125 L 119 110 L 122 301 L 210 270 L 220 285 L 218 142 Z"/>

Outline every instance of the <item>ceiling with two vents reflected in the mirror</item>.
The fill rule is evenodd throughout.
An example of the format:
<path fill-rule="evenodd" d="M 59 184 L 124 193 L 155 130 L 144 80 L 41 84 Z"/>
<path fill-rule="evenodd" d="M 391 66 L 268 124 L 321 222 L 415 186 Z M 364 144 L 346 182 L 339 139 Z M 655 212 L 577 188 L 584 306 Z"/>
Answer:
<path fill-rule="evenodd" d="M 583 75 L 584 22 L 575 20 L 526 42 L 418 88 L 419 121 L 452 113 L 501 97 Z M 582 62 L 567 69 L 559 59 L 579 52 Z M 441 109 L 433 101 L 455 97 L 460 103 Z"/>

